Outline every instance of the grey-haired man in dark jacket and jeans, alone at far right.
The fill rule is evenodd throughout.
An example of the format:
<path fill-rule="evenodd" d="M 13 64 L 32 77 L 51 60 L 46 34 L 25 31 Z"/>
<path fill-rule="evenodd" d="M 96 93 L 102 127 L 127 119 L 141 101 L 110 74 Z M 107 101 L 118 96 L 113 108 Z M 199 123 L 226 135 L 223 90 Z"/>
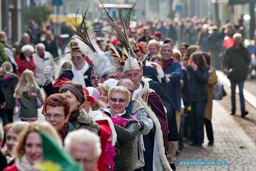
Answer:
<path fill-rule="evenodd" d="M 228 75 L 228 79 L 231 83 L 232 109 L 229 114 L 234 115 L 236 113 L 236 84 L 238 84 L 241 104 L 241 117 L 244 117 L 248 114 L 248 112 L 245 110 L 244 106 L 243 88 L 251 58 L 247 49 L 242 44 L 242 35 L 240 33 L 236 33 L 233 35 L 233 39 L 234 45 L 224 52 L 224 57 L 222 59 L 222 69 L 223 72 Z"/>

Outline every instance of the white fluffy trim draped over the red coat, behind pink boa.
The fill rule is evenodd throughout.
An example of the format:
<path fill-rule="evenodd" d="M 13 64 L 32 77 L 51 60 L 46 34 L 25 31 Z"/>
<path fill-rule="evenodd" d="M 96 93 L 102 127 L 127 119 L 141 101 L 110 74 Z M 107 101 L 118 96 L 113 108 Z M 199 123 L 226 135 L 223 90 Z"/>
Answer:
<path fill-rule="evenodd" d="M 111 129 L 111 136 L 109 137 L 108 141 L 112 141 L 112 145 L 114 146 L 116 144 L 116 130 L 115 126 L 112 122 L 112 120 L 103 112 L 101 111 L 92 111 L 92 108 L 90 107 L 88 111 L 88 115 L 94 120 L 107 120 L 108 121 L 108 126 Z"/>

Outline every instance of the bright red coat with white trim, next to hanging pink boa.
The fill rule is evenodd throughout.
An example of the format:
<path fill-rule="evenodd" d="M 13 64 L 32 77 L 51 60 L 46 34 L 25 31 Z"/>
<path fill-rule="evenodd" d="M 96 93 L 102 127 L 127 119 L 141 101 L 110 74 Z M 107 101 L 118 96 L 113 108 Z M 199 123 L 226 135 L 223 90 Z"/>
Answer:
<path fill-rule="evenodd" d="M 97 124 L 99 124 L 99 127 L 100 127 L 101 154 L 100 154 L 100 158 L 98 160 L 98 169 L 100 171 L 106 171 L 106 166 L 105 166 L 105 162 L 104 162 L 104 152 L 106 149 L 108 138 L 111 136 L 112 132 L 108 126 L 107 120 L 97 120 L 95 122 Z"/>

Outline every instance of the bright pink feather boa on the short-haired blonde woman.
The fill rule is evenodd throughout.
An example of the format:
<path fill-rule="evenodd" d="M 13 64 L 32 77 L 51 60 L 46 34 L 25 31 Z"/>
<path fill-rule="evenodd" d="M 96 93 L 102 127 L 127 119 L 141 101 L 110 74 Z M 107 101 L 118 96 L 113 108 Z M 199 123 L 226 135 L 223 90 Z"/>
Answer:
<path fill-rule="evenodd" d="M 130 116 L 132 117 L 132 120 L 137 120 L 135 116 L 132 116 L 132 115 Z M 124 126 L 129 122 L 129 120 L 120 116 L 116 118 L 114 117 L 110 117 L 110 118 L 114 124 L 119 126 Z M 113 160 L 115 156 L 116 156 L 116 148 L 115 146 L 112 146 L 111 141 L 108 141 L 106 145 L 105 157 L 104 157 L 104 162 L 105 162 L 107 171 L 114 170 L 115 162 Z"/>

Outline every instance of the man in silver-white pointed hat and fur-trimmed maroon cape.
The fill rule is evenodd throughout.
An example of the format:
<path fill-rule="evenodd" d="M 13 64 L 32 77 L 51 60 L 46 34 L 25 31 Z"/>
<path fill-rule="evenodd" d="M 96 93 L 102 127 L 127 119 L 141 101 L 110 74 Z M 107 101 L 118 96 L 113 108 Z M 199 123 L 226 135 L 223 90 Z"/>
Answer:
<path fill-rule="evenodd" d="M 134 83 L 135 90 L 132 99 L 139 99 L 146 109 L 148 118 L 154 123 L 149 134 L 143 136 L 146 149 L 143 152 L 145 160 L 143 170 L 171 170 L 166 158 L 168 123 L 160 97 L 155 92 L 149 91 L 148 81 L 142 78 L 139 64 L 135 58 L 130 57 L 125 61 L 122 78 L 130 79 Z M 154 151 L 157 151 L 159 155 L 154 155 Z"/>

